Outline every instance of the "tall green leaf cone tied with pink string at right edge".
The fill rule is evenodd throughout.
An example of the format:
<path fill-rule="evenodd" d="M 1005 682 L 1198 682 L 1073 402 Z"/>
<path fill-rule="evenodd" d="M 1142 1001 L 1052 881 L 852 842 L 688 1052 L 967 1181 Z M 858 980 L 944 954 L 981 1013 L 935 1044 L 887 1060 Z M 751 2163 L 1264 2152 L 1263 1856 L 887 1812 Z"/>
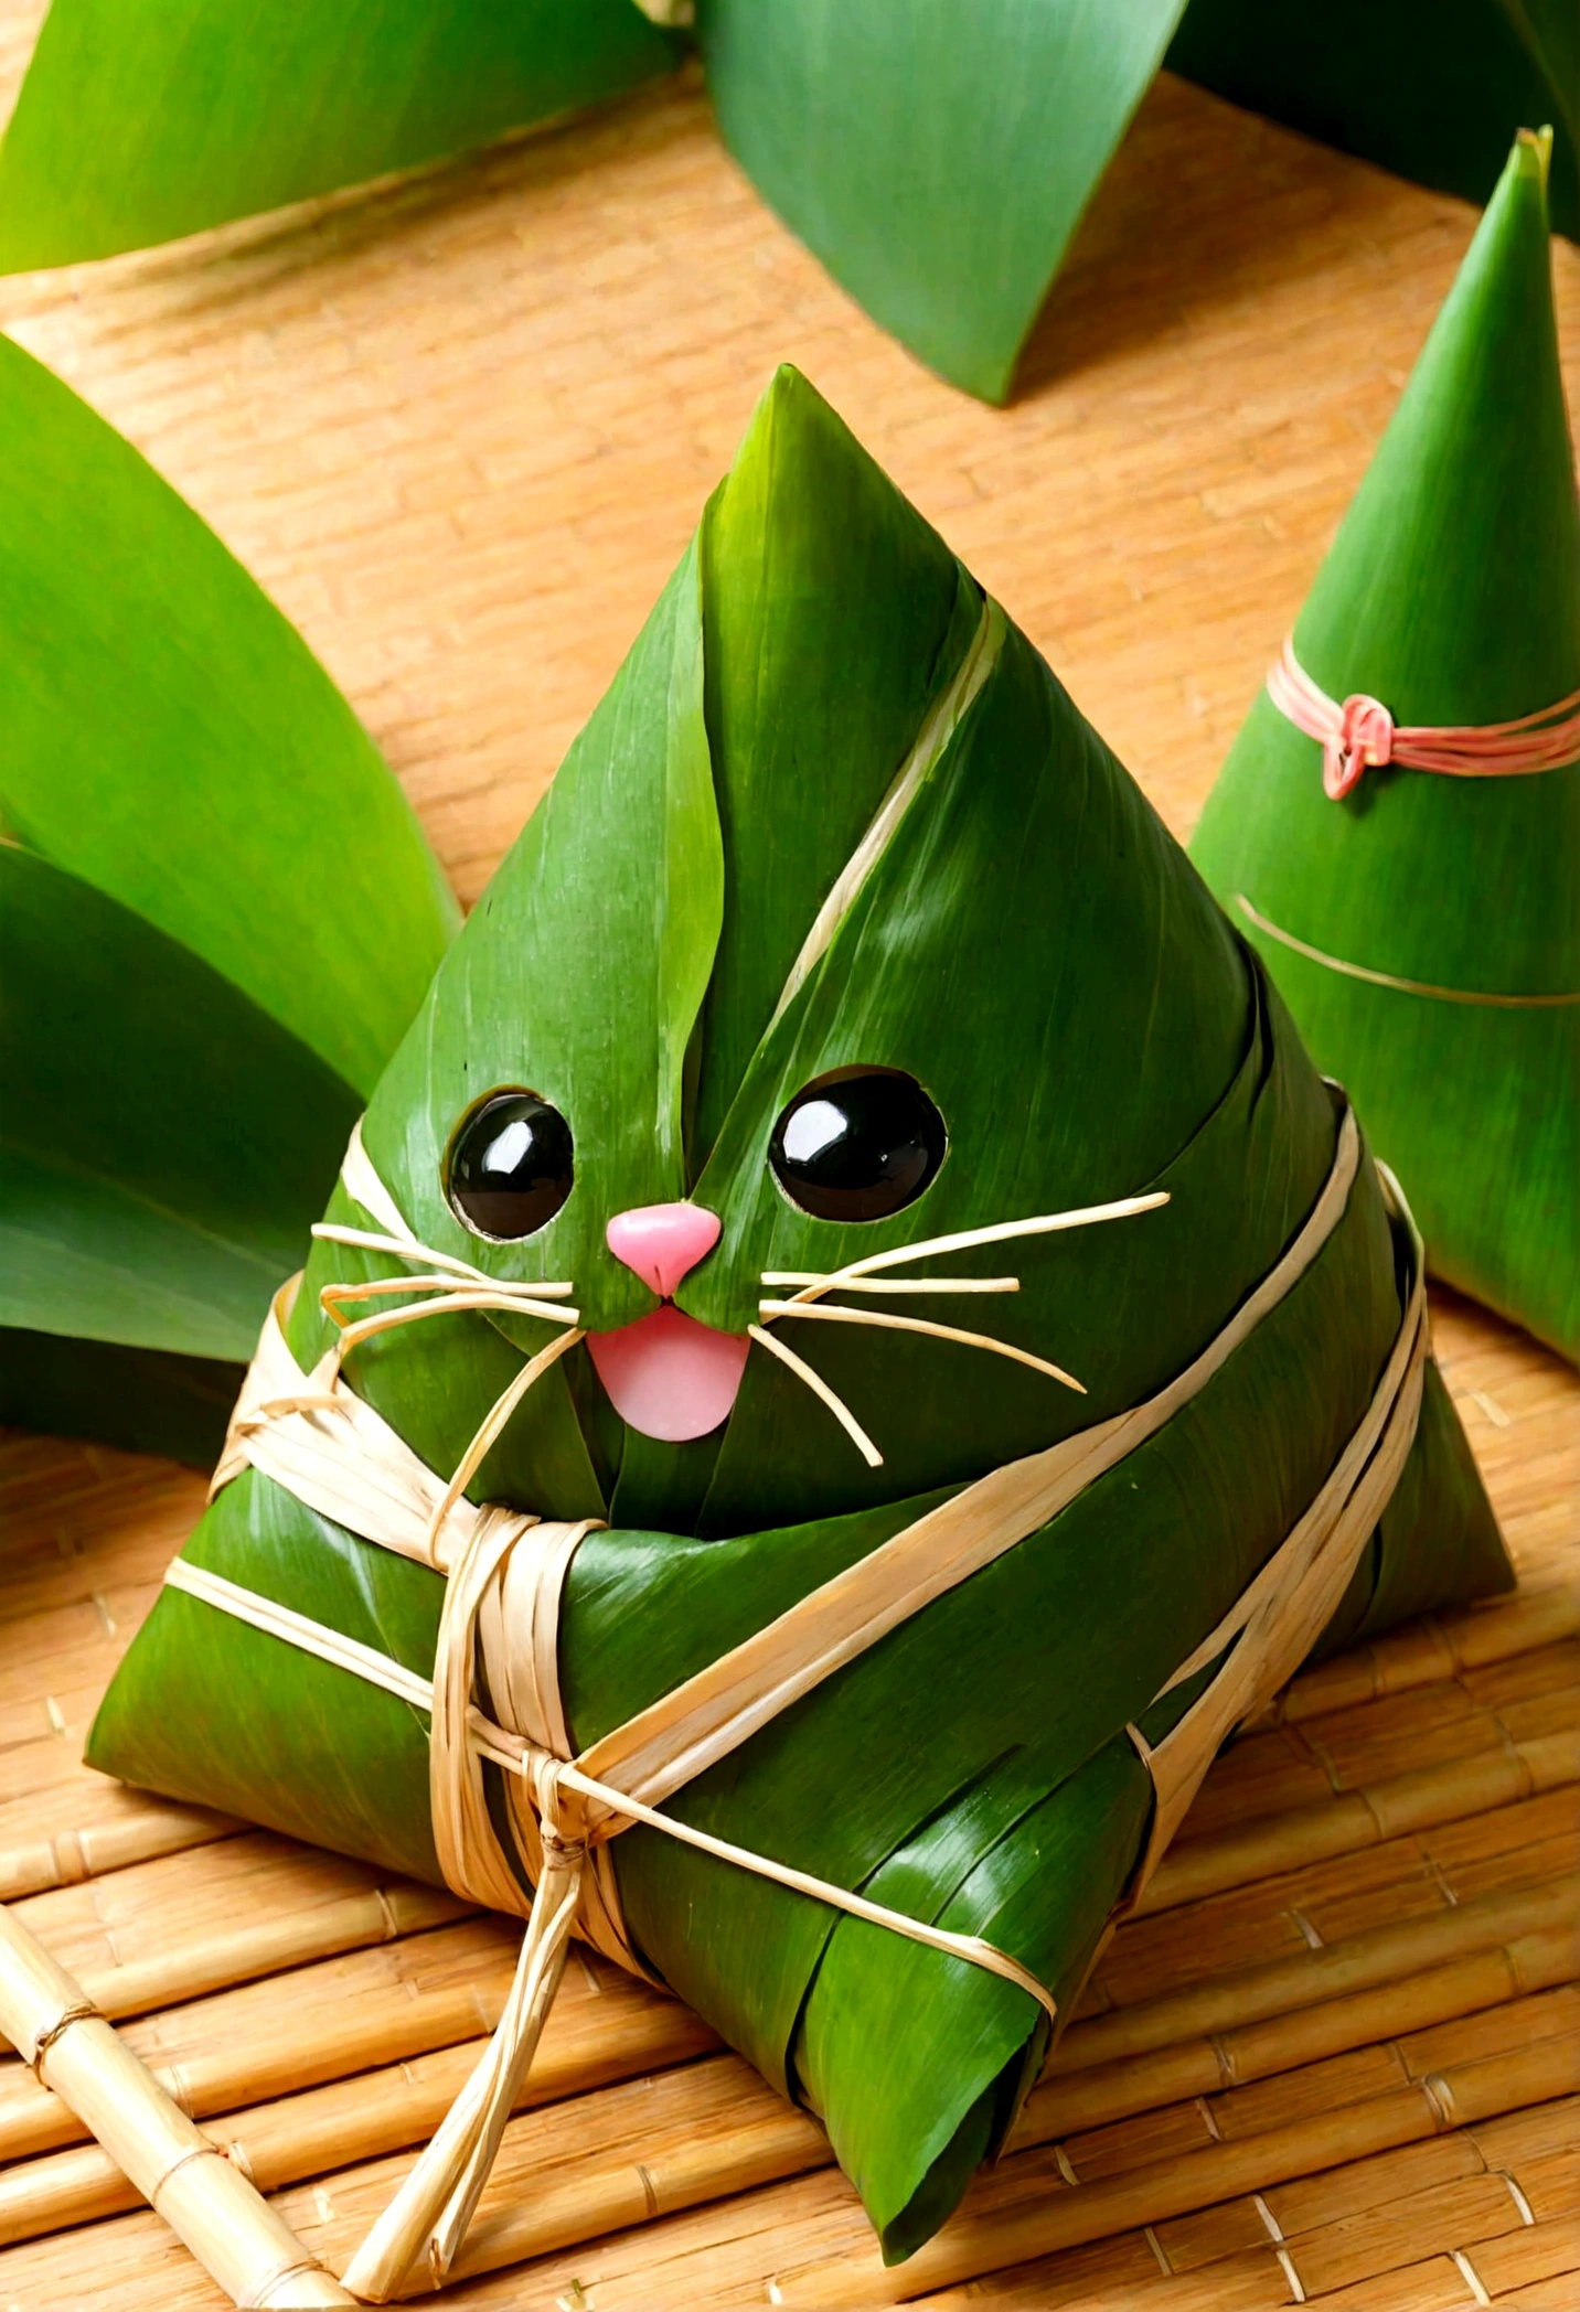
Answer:
<path fill-rule="evenodd" d="M 1515 146 L 1295 652 L 1330 698 L 1365 691 L 1402 724 L 1504 721 L 1580 689 L 1580 513 L 1534 141 Z M 1316 742 L 1263 694 L 1191 851 L 1351 1087 L 1439 1274 L 1580 1355 L 1580 1003 L 1409 994 L 1289 946 L 1425 990 L 1580 994 L 1580 763 L 1369 770 L 1330 802 Z"/>

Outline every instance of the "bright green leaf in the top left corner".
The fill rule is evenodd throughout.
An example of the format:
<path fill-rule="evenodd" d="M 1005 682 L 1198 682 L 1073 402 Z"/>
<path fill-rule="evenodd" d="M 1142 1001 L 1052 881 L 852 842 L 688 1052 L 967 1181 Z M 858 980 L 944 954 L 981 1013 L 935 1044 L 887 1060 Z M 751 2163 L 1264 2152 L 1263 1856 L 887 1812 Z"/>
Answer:
<path fill-rule="evenodd" d="M 0 268 L 361 185 L 675 60 L 629 0 L 53 0 L 0 148 Z"/>

